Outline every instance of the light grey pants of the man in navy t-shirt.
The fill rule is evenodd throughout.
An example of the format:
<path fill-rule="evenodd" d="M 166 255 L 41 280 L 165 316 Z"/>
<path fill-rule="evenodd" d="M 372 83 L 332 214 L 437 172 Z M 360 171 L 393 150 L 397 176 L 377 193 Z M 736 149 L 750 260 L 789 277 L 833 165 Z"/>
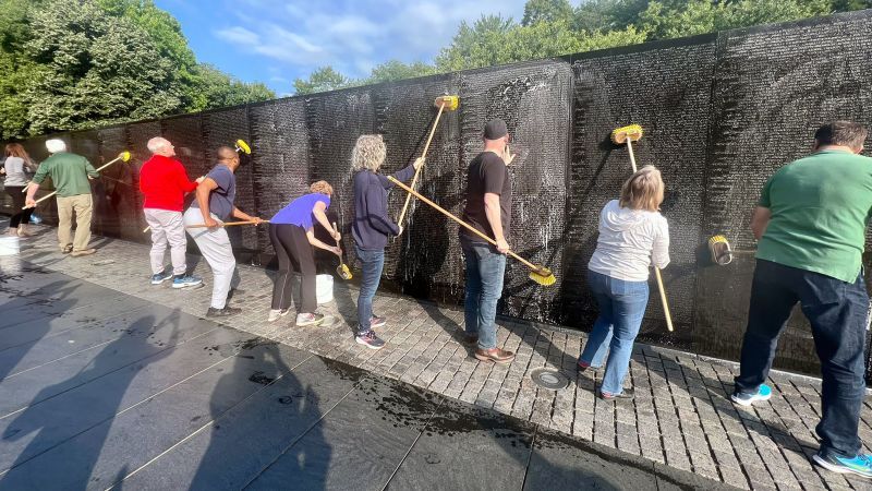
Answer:
<path fill-rule="evenodd" d="M 211 217 L 219 219 L 215 214 Z M 203 214 L 199 208 L 187 208 L 184 212 L 184 225 L 203 225 Z M 233 249 L 230 247 L 230 237 L 223 228 L 187 228 L 187 233 L 197 243 L 201 254 L 206 258 L 206 262 L 211 267 L 214 276 L 211 287 L 211 306 L 215 309 L 223 309 L 227 306 L 227 294 L 230 291 L 230 283 L 233 280 L 233 272 L 237 270 L 237 260 L 233 258 Z"/>

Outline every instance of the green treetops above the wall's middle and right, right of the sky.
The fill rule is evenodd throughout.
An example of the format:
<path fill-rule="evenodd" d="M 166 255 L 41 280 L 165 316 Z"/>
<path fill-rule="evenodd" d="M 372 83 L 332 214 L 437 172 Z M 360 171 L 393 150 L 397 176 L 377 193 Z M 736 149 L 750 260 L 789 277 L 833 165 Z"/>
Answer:
<path fill-rule="evenodd" d="M 434 64 L 392 60 L 360 81 L 325 67 L 294 86 L 327 91 L 869 8 L 872 0 L 528 0 L 520 23 L 501 15 L 461 22 Z M 318 82 L 325 74 L 335 83 Z"/>

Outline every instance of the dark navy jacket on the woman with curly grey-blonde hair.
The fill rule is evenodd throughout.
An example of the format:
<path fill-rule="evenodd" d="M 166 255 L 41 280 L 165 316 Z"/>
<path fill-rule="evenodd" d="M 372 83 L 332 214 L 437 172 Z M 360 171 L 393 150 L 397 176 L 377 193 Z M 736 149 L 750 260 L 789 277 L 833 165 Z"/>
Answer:
<path fill-rule="evenodd" d="M 409 166 L 393 178 L 409 181 L 415 175 Z M 388 235 L 398 235 L 400 227 L 388 217 L 388 190 L 393 183 L 387 177 L 371 170 L 354 175 L 354 223 L 351 232 L 354 243 L 364 251 L 380 251 L 388 244 Z"/>

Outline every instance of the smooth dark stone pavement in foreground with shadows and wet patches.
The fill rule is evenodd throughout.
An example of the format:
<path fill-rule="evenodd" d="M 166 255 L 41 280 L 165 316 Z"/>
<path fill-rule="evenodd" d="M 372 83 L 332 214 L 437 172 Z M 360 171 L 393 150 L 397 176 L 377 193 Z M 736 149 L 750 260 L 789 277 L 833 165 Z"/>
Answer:
<path fill-rule="evenodd" d="M 0 258 L 0 489 L 713 489 Z"/>

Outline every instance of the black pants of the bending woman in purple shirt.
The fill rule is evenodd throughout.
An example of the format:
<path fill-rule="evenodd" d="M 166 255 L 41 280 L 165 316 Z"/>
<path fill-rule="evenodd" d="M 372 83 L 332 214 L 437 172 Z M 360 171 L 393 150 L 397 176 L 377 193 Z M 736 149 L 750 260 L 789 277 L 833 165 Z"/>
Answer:
<path fill-rule="evenodd" d="M 315 301 L 315 254 L 308 243 L 303 227 L 287 224 L 269 224 L 269 241 L 279 259 L 279 274 L 272 287 L 272 309 L 291 307 L 291 279 L 293 274 L 302 276 L 300 287 L 300 313 L 314 313 L 318 307 Z"/>

